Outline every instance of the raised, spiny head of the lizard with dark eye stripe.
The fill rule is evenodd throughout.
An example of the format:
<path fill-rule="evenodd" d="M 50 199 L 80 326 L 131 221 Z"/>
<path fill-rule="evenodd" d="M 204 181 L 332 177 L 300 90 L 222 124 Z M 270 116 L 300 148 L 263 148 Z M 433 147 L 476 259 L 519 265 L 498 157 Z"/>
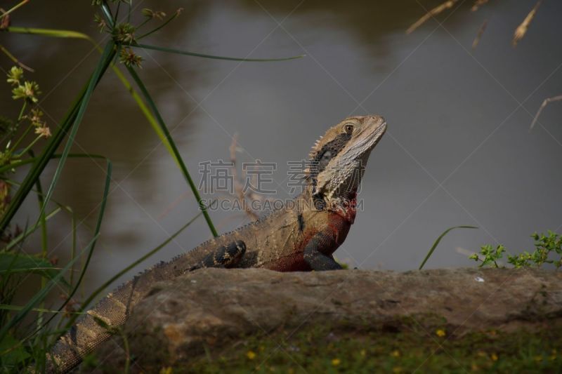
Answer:
<path fill-rule="evenodd" d="M 386 131 L 381 116 L 353 116 L 326 131 L 311 149 L 311 193 L 326 203 L 354 199 L 369 155 Z"/>

